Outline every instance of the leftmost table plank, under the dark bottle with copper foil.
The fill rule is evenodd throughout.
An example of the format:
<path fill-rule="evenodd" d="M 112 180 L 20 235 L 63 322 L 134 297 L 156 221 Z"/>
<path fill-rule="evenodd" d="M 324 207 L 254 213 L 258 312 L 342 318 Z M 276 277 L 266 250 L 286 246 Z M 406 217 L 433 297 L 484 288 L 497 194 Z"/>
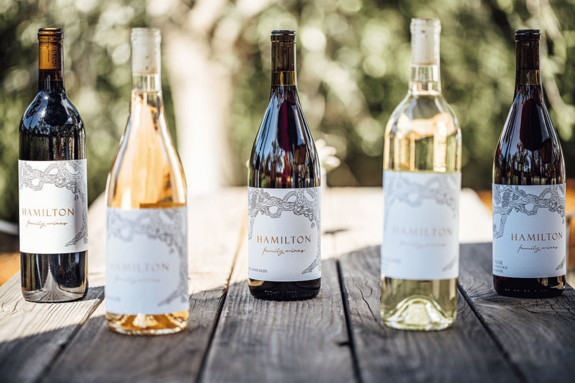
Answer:
<path fill-rule="evenodd" d="M 95 229 L 94 212 L 90 207 L 90 235 Z M 95 207 L 95 208 L 94 208 Z M 92 238 L 92 237 L 90 237 Z M 91 255 L 98 252 L 97 241 L 90 239 Z M 6 382 L 33 382 L 43 376 L 54 358 L 104 298 L 102 284 L 93 283 L 89 274 L 89 290 L 85 299 L 66 303 L 32 303 L 25 301 L 20 288 L 20 273 L 0 287 L 0 377 Z"/>

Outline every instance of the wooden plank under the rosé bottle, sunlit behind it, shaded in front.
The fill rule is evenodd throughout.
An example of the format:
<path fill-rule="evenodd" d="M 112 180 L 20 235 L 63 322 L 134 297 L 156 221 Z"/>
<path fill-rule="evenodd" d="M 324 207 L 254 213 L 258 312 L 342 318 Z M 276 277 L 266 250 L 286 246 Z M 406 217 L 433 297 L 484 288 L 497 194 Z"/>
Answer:
<path fill-rule="evenodd" d="M 106 326 L 102 304 L 43 382 L 193 381 L 208 349 L 247 223 L 246 201 L 244 188 L 190 199 L 187 331 L 168 336 L 115 334 Z"/>

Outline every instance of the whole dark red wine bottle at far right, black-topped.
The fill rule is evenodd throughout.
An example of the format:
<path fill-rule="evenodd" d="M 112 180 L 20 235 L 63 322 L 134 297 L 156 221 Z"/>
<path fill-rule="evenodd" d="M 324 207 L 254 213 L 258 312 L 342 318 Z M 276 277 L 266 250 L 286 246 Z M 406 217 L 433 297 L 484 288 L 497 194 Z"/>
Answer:
<path fill-rule="evenodd" d="M 547 112 L 538 29 L 517 30 L 515 96 L 493 161 L 493 287 L 554 297 L 565 289 L 565 162 Z"/>

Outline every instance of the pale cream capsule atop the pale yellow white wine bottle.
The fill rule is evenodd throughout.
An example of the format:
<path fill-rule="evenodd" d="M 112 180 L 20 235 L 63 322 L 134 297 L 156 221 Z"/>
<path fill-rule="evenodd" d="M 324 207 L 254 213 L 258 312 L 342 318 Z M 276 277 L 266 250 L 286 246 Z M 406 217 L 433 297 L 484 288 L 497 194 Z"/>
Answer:
<path fill-rule="evenodd" d="M 436 18 L 411 19 L 411 63 L 439 64 L 439 33 L 441 22 Z"/>

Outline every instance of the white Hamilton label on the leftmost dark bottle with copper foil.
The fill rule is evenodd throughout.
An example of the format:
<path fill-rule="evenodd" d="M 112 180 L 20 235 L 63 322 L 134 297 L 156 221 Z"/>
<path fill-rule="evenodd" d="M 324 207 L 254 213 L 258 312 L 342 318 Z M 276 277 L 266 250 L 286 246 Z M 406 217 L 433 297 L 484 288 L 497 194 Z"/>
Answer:
<path fill-rule="evenodd" d="M 18 160 L 20 251 L 88 250 L 86 159 Z"/>

